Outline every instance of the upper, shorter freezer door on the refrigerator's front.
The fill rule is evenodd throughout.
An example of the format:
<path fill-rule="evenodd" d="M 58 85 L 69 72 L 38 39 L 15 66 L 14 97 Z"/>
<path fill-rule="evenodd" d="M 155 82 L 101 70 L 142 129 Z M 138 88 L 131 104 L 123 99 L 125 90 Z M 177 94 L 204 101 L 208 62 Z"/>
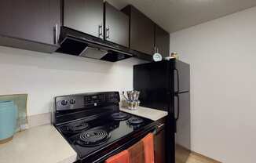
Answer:
<path fill-rule="evenodd" d="M 174 62 L 174 92 L 188 92 L 190 89 L 190 66 L 188 63 Z"/>

